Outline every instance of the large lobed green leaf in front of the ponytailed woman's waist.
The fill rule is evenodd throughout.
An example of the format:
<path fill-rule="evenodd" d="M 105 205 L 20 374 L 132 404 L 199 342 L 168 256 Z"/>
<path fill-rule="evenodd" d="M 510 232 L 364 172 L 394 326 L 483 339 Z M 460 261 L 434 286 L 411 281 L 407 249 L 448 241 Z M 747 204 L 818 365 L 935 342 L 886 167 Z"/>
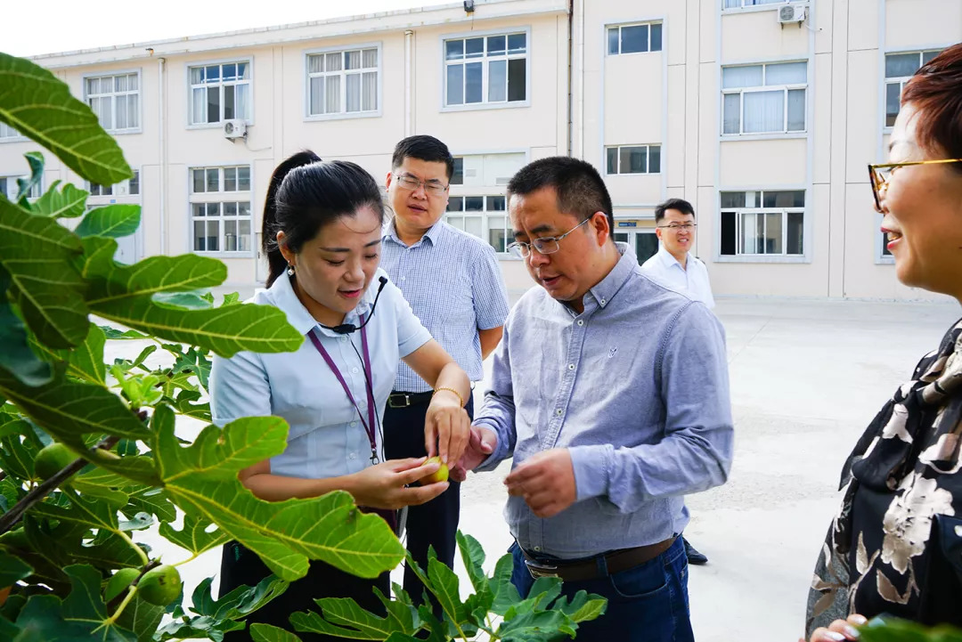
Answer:
<path fill-rule="evenodd" d="M 241 468 L 287 448 L 283 419 L 247 417 L 223 430 L 208 426 L 189 448 L 179 445 L 169 408 L 157 407 L 153 422 L 153 454 L 171 499 L 187 514 L 215 523 L 284 580 L 303 577 L 308 559 L 374 578 L 404 556 L 388 524 L 363 514 L 348 493 L 265 502 L 241 485 Z"/>

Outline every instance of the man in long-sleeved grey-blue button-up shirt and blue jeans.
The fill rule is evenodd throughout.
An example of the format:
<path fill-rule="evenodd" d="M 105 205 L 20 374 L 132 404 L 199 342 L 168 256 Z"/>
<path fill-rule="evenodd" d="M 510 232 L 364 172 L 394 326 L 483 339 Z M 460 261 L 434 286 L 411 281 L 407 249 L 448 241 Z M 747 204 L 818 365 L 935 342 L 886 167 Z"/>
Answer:
<path fill-rule="evenodd" d="M 590 164 L 536 160 L 508 194 L 513 251 L 541 287 L 508 317 L 463 467 L 514 457 L 505 518 L 522 594 L 557 575 L 566 594 L 609 598 L 579 640 L 690 640 L 677 535 L 684 495 L 731 465 L 722 326 L 616 245 Z"/>

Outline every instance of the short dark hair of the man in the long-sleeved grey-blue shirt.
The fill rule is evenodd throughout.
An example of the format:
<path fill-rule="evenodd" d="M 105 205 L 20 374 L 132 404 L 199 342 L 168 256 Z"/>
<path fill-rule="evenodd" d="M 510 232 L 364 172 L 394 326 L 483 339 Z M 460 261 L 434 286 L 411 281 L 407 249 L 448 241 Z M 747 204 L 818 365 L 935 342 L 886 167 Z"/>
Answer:
<path fill-rule="evenodd" d="M 544 187 L 553 187 L 558 194 L 558 210 L 574 215 L 579 221 L 591 218 L 596 211 L 604 212 L 608 216 L 609 233 L 614 234 L 611 196 L 591 163 L 567 156 L 529 162 L 508 183 L 508 198 L 512 194 L 526 196 Z"/>

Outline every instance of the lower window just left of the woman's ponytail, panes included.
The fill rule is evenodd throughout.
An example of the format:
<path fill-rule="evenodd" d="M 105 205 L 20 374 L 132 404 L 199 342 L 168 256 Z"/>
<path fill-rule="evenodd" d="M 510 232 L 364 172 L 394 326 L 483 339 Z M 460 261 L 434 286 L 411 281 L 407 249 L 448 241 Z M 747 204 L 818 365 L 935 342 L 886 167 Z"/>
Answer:
<path fill-rule="evenodd" d="M 253 216 L 250 166 L 190 169 L 190 229 L 194 252 L 250 253 Z"/>

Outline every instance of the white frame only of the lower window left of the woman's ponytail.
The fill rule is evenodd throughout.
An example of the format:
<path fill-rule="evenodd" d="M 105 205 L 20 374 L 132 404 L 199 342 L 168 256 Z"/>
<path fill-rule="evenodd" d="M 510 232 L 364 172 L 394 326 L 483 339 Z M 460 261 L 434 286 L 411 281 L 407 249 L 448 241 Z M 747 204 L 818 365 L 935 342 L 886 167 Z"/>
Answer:
<path fill-rule="evenodd" d="M 234 190 L 225 191 L 223 189 L 225 183 L 224 170 L 238 167 L 247 167 L 250 185 L 246 190 Z M 193 172 L 196 169 L 210 170 L 216 169 L 217 171 L 217 191 L 207 191 L 206 189 L 206 177 L 205 177 L 205 190 L 201 192 L 195 192 L 193 190 Z M 255 227 L 255 212 L 254 212 L 254 163 L 191 163 L 187 167 L 187 252 L 190 254 L 197 255 L 199 257 L 215 257 L 219 259 L 253 259 L 257 257 L 257 229 Z M 194 204 L 207 204 L 207 203 L 217 203 L 220 205 L 218 214 L 216 216 L 194 216 L 193 206 Z M 224 203 L 237 203 L 246 204 L 248 209 L 248 214 L 246 216 L 227 216 L 223 214 L 222 206 Z M 225 239 L 225 225 L 223 222 L 225 220 L 249 220 L 250 221 L 250 250 L 195 250 L 194 249 L 194 222 L 198 220 L 216 220 L 218 222 L 217 226 L 217 244 L 219 247 L 226 247 Z M 240 229 L 240 226 L 239 226 Z"/>

